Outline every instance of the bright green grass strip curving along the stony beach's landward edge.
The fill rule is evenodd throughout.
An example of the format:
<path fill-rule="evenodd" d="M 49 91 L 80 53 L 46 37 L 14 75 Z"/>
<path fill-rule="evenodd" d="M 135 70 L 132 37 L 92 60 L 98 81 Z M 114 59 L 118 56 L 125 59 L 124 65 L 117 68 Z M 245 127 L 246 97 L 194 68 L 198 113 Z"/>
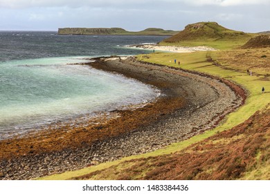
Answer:
<path fill-rule="evenodd" d="M 104 164 L 99 164 L 97 166 L 84 168 L 82 170 L 76 170 L 71 172 L 62 173 L 60 175 L 51 175 L 48 177 L 42 177 L 39 179 L 71 179 L 72 177 L 78 177 L 80 175 L 85 175 L 87 173 L 94 172 L 96 170 L 101 170 L 104 168 L 109 168 L 111 166 L 115 166 L 120 164 L 122 161 L 127 161 L 130 159 L 137 159 L 141 157 L 155 157 L 158 155 L 166 155 L 172 152 L 177 152 L 182 150 L 183 148 L 187 148 L 188 145 L 192 143 L 197 143 L 201 140 L 208 138 L 209 136 L 213 136 L 218 132 L 222 132 L 224 130 L 229 130 L 235 125 L 238 125 L 247 118 L 252 116 L 256 111 L 260 109 L 264 109 L 270 103 L 270 93 L 261 94 L 261 88 L 264 86 L 266 89 L 270 89 L 270 82 L 266 82 L 261 80 L 261 77 L 257 76 L 248 76 L 246 72 L 236 72 L 232 70 L 222 69 L 220 67 L 216 67 L 212 65 L 210 62 L 206 62 L 206 52 L 196 52 L 196 53 L 152 53 L 147 55 L 149 58 L 145 58 L 145 55 L 139 55 L 138 59 L 146 62 L 154 62 L 158 64 L 164 64 L 172 67 L 179 67 L 178 64 L 174 64 L 174 59 L 181 61 L 181 68 L 189 69 L 192 71 L 199 71 L 208 73 L 211 75 L 215 75 L 221 78 L 226 78 L 228 80 L 232 80 L 237 84 L 242 85 L 248 92 L 249 96 L 246 99 L 246 103 L 237 109 L 237 111 L 228 114 L 224 121 L 219 124 L 219 126 L 215 127 L 213 130 L 208 130 L 204 132 L 204 134 L 200 134 L 197 136 L 193 136 L 192 138 L 181 141 L 179 143 L 173 143 L 168 147 L 156 150 L 154 152 L 146 153 L 144 155 L 137 155 L 132 157 L 126 157 L 120 159 L 118 161 L 107 162 Z M 171 61 L 171 62 L 170 62 Z M 132 165 L 132 164 L 131 164 Z M 269 170 L 269 166 L 262 167 L 262 171 Z M 248 176 L 253 176 L 260 174 L 260 172 L 252 172 Z"/>

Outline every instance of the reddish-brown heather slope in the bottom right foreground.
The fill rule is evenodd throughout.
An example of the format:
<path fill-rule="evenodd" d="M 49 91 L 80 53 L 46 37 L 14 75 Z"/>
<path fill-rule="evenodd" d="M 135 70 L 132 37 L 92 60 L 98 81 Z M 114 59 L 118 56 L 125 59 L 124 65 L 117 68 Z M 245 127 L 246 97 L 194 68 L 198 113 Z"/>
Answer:
<path fill-rule="evenodd" d="M 266 109 L 181 152 L 125 161 L 75 179 L 240 179 L 269 164 L 269 136 L 270 109 Z"/>

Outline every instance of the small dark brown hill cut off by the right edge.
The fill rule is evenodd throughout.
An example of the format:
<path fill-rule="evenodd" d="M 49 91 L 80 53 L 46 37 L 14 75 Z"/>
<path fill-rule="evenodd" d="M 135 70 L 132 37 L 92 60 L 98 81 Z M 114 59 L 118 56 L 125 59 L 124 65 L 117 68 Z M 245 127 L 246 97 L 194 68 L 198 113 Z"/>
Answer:
<path fill-rule="evenodd" d="M 241 48 L 266 48 L 270 47 L 270 35 L 259 35 L 249 39 Z"/>

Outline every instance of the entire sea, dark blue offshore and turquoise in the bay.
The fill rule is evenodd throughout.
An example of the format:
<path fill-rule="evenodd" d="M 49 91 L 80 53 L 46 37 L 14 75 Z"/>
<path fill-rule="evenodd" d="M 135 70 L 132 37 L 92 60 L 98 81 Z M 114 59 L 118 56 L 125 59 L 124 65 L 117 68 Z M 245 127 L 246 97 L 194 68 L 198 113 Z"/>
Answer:
<path fill-rule="evenodd" d="M 100 56 L 150 53 L 125 46 L 164 38 L 1 31 L 0 140 L 154 100 L 159 89 L 80 63 Z"/>

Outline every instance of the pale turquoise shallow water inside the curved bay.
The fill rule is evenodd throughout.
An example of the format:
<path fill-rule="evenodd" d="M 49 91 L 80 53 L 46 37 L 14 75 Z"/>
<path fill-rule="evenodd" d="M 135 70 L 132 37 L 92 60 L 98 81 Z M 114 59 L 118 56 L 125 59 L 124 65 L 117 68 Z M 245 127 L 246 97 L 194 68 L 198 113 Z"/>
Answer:
<path fill-rule="evenodd" d="M 154 100 L 159 91 L 119 74 L 78 65 L 85 58 L 0 64 L 1 139 L 10 132 Z"/>

